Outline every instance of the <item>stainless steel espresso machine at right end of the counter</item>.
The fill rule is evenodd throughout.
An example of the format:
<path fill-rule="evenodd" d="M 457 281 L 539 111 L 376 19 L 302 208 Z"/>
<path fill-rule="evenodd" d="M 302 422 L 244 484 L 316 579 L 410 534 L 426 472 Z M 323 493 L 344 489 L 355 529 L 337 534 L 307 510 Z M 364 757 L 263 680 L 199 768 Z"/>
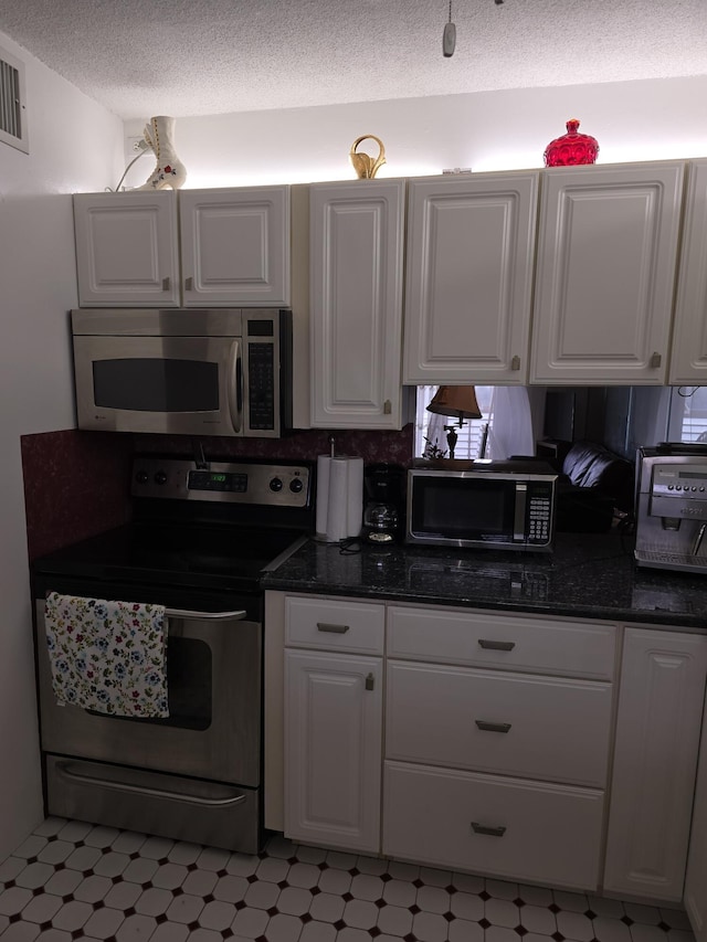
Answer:
<path fill-rule="evenodd" d="M 663 443 L 636 455 L 640 567 L 707 572 L 707 445 Z"/>

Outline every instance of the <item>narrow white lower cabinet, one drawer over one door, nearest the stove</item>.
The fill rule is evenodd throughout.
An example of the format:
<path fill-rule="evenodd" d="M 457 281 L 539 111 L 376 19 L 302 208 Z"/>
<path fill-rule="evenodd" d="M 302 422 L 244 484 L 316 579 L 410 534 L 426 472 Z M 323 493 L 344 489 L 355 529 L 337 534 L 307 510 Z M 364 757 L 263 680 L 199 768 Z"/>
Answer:
<path fill-rule="evenodd" d="M 284 819 L 293 840 L 380 850 L 382 657 L 348 653 L 374 647 L 376 633 L 382 653 L 382 606 L 286 601 L 286 645 L 336 646 L 285 649 Z"/>

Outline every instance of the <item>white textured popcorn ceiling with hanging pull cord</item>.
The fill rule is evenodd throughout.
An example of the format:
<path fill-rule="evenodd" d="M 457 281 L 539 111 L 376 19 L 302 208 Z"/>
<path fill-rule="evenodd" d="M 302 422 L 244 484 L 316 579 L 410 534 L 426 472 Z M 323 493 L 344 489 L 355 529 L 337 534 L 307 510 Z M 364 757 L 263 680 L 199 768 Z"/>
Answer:
<path fill-rule="evenodd" d="M 123 118 L 707 74 L 707 0 L 0 0 Z"/>

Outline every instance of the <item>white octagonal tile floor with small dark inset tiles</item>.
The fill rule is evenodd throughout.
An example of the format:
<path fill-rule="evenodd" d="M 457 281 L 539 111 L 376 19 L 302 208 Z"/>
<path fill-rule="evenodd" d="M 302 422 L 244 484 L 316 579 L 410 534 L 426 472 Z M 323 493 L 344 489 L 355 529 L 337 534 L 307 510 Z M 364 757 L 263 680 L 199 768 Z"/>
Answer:
<path fill-rule="evenodd" d="M 230 854 L 48 818 L 0 864 L 1 942 L 694 942 L 685 913 L 270 839 Z"/>

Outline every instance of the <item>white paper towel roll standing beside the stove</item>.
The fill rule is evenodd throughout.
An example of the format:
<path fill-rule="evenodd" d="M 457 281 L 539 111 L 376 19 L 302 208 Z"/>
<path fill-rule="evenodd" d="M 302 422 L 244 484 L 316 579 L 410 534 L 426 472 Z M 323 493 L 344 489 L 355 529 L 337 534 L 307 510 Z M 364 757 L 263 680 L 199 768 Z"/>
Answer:
<path fill-rule="evenodd" d="M 363 458 L 317 457 L 317 539 L 329 543 L 361 532 Z"/>

